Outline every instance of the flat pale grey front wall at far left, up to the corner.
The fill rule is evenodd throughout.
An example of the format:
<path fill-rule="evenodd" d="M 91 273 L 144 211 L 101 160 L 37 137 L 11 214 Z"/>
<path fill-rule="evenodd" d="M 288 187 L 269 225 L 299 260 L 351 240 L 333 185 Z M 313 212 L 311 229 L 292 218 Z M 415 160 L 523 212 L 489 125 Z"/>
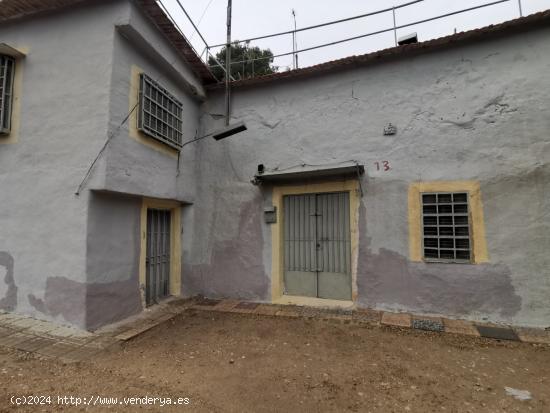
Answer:
<path fill-rule="evenodd" d="M 0 145 L 0 306 L 80 326 L 88 193 L 75 191 L 107 135 L 121 12 L 120 2 L 96 6 L 0 27 L 2 42 L 28 51 L 19 140 Z"/>

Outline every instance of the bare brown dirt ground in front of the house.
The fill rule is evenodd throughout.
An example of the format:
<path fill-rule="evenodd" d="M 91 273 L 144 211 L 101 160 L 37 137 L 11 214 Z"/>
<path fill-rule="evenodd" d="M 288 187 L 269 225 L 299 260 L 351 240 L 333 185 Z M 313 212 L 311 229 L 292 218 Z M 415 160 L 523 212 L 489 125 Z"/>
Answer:
<path fill-rule="evenodd" d="M 53 404 L 15 406 L 14 395 L 50 395 Z M 60 406 L 58 395 L 189 404 Z M 550 412 L 550 347 L 189 310 L 89 362 L 0 349 L 0 411 L 53 410 Z"/>

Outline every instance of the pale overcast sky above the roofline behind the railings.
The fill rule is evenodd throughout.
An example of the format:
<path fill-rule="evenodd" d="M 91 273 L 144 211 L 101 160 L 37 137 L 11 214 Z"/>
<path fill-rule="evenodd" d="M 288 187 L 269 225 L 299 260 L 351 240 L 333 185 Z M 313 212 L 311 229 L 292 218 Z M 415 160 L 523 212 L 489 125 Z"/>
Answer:
<path fill-rule="evenodd" d="M 157 0 L 159 1 L 159 0 Z M 185 17 L 176 0 L 161 0 L 174 17 L 198 54 L 205 44 Z M 227 0 L 179 0 L 209 45 L 226 41 Z M 232 39 L 242 40 L 265 34 L 292 30 L 296 12 L 297 27 L 306 27 L 332 20 L 386 9 L 410 0 L 233 0 Z M 397 25 L 435 17 L 452 11 L 491 3 L 494 0 L 424 0 L 396 10 Z M 523 15 L 550 9 L 550 0 L 521 0 Z M 428 23 L 397 30 L 397 36 L 416 32 L 419 41 L 484 27 L 519 17 L 519 1 L 461 13 Z M 347 37 L 393 27 L 392 12 L 340 23 L 297 34 L 298 49 L 312 47 Z M 292 51 L 292 36 L 285 35 L 252 42 L 251 45 L 269 48 L 277 55 Z M 299 53 L 299 67 L 306 67 L 351 55 L 360 55 L 394 45 L 393 31 L 334 46 Z M 219 49 L 218 49 L 219 50 Z M 215 52 L 216 49 L 213 49 Z M 204 55 L 203 55 L 204 57 Z M 279 70 L 292 67 L 292 55 L 276 58 Z"/>

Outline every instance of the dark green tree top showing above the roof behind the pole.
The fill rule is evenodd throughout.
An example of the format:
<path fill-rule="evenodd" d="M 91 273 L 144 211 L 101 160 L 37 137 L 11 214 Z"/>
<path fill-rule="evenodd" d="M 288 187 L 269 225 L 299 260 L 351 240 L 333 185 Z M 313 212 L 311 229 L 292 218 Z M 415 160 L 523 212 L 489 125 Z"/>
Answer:
<path fill-rule="evenodd" d="M 218 53 L 216 59 L 225 69 L 224 46 Z M 213 56 L 208 57 L 208 64 L 217 79 L 225 79 L 225 70 L 222 69 Z M 257 46 L 251 47 L 248 43 L 233 43 L 231 45 L 231 75 L 235 79 L 246 79 L 253 76 L 268 75 L 275 73 L 278 69 L 273 66 L 273 53 L 269 49 L 260 49 Z"/>

